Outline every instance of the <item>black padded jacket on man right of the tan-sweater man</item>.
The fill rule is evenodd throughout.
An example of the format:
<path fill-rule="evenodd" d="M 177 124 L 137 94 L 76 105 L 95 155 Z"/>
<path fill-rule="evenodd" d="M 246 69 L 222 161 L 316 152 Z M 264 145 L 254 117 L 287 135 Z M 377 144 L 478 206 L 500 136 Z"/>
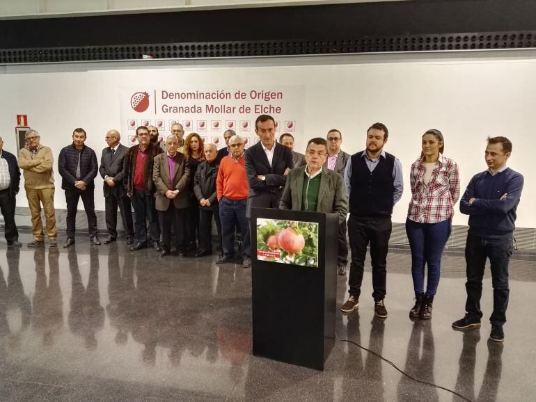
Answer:
<path fill-rule="evenodd" d="M 97 155 L 87 145 L 80 151 L 80 179 L 77 179 L 77 161 L 78 151 L 74 144 L 68 145 L 60 151 L 58 157 L 58 172 L 61 175 L 61 188 L 63 190 L 74 189 L 74 182 L 82 180 L 88 188 L 95 186 L 95 177 L 97 177 Z"/>

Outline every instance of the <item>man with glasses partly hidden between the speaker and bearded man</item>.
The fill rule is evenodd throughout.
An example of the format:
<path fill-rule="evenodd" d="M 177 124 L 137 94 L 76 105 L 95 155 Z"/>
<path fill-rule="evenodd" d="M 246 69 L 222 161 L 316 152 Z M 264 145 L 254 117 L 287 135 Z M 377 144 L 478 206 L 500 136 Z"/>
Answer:
<path fill-rule="evenodd" d="M 350 159 L 350 155 L 340 150 L 342 145 L 342 134 L 337 129 L 331 129 L 326 136 L 328 141 L 328 157 L 324 163 L 324 168 L 333 170 L 340 175 L 345 176 L 346 164 Z M 339 226 L 338 237 L 338 257 L 337 271 L 339 275 L 346 275 L 346 266 L 348 264 L 348 243 L 346 240 L 346 218 Z"/>

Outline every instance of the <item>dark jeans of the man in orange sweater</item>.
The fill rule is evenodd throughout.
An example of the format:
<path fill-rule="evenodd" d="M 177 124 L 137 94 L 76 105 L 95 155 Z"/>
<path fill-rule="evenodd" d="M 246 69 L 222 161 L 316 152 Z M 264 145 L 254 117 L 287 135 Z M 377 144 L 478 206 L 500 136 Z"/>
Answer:
<path fill-rule="evenodd" d="M 251 256 L 251 238 L 249 236 L 249 222 L 246 219 L 247 200 L 230 200 L 221 198 L 219 202 L 219 217 L 221 220 L 221 237 L 223 254 L 226 257 L 235 255 L 235 227 L 240 228 L 242 236 L 242 255 Z"/>

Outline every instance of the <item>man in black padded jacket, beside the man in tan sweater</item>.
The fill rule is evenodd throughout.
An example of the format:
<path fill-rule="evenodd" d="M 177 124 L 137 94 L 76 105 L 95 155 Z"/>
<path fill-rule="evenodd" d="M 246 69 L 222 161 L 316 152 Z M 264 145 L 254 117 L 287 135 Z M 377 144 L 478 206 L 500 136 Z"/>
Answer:
<path fill-rule="evenodd" d="M 88 217 L 90 241 L 92 244 L 100 245 L 97 238 L 97 215 L 95 214 L 95 177 L 99 166 L 95 151 L 84 144 L 86 138 L 84 129 L 74 129 L 72 144 L 63 148 L 58 158 L 61 188 L 65 190 L 65 200 L 67 201 L 67 241 L 63 245 L 64 248 L 74 244 L 80 198 L 84 202 L 84 209 Z"/>

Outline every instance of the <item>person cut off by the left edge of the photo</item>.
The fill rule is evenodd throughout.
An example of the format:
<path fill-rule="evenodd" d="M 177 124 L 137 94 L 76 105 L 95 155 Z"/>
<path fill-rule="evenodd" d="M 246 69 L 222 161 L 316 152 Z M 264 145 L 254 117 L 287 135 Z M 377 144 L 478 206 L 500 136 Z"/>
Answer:
<path fill-rule="evenodd" d="M 19 192 L 20 170 L 17 158 L 3 150 L 0 137 L 0 210 L 3 216 L 3 234 L 8 246 L 20 247 L 19 231 L 15 225 L 15 196 Z"/>

